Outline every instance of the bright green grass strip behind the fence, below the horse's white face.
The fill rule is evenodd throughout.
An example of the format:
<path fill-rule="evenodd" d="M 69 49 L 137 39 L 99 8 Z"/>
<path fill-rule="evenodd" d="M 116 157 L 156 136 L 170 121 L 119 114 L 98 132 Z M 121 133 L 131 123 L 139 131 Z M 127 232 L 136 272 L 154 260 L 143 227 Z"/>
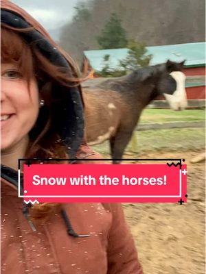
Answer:
<path fill-rule="evenodd" d="M 146 109 L 141 114 L 140 123 L 161 123 L 174 121 L 205 121 L 205 110 L 174 110 Z"/>

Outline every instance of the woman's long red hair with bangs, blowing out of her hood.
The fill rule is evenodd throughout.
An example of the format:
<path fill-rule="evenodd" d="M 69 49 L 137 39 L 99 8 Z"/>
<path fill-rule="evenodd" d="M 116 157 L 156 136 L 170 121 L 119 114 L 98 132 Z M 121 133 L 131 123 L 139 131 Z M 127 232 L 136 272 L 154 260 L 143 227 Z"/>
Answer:
<path fill-rule="evenodd" d="M 66 71 L 49 62 L 36 49 L 35 45 L 28 45 L 23 40 L 21 34 L 25 31 L 23 29 L 14 29 L 7 25 L 1 27 L 1 62 L 16 64 L 27 83 L 35 76 L 39 84 L 41 97 L 43 97 L 45 105 L 47 105 L 47 110 L 44 112 L 40 111 L 36 125 L 30 132 L 30 145 L 25 158 L 68 158 L 65 146 L 59 141 L 59 136 L 49 128 L 51 120 L 49 105 L 50 101 L 52 101 L 51 85 L 49 83 L 56 81 L 65 86 L 78 85 L 81 81 L 76 74 L 78 70 L 72 64 L 71 71 Z M 44 86 L 44 83 L 47 84 Z M 54 214 L 59 206 L 58 203 L 35 205 L 31 210 L 32 218 L 45 219 Z"/>

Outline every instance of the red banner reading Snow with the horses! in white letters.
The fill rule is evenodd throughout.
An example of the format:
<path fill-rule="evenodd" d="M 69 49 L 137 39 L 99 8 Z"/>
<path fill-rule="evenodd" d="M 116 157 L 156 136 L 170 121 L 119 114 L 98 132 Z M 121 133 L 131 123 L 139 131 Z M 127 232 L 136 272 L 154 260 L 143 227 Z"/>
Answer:
<path fill-rule="evenodd" d="M 19 197 L 26 202 L 187 201 L 187 166 L 161 164 L 24 164 Z"/>

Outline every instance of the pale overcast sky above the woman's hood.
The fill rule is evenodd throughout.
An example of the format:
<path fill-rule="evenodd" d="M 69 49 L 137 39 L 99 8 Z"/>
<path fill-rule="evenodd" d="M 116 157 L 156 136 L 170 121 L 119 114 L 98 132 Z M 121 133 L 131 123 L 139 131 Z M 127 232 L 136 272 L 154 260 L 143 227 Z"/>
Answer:
<path fill-rule="evenodd" d="M 12 0 L 29 12 L 45 29 L 56 29 L 71 21 L 73 7 L 79 0 Z"/>

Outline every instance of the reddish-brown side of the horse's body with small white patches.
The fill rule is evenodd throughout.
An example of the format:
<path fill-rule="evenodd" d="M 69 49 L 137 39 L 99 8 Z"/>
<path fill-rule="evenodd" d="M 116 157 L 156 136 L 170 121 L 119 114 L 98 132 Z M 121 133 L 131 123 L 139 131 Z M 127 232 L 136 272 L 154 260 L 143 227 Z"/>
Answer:
<path fill-rule="evenodd" d="M 122 111 L 119 107 L 122 102 L 120 102 L 119 95 L 115 93 L 117 92 L 100 88 L 83 89 L 88 142 L 103 141 L 115 134 Z"/>

